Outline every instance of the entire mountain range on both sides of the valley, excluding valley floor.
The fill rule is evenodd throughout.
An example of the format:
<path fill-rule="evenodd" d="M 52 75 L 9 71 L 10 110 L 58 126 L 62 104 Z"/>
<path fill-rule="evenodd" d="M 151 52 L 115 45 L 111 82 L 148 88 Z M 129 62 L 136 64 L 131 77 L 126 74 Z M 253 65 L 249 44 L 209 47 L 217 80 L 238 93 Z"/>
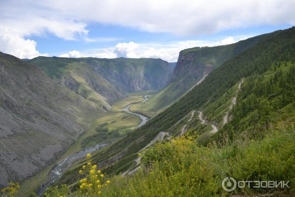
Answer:
<path fill-rule="evenodd" d="M 147 90 L 155 93 L 135 103 L 150 120 L 72 164 L 55 185 L 73 192 L 55 188 L 49 197 L 84 192 L 77 180 L 87 162 L 109 175 L 104 196 L 228 196 L 220 182 L 230 175 L 295 181 L 294 27 L 185 49 L 174 69 L 161 59 L 0 53 L 0 71 L 1 185 L 40 171 L 116 101 Z"/>

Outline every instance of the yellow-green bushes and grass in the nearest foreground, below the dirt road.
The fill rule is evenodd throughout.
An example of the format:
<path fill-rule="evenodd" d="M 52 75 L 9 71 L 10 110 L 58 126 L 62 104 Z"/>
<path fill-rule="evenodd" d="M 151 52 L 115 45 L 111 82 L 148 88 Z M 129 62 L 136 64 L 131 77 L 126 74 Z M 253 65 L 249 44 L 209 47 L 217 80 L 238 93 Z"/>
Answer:
<path fill-rule="evenodd" d="M 295 193 L 295 122 L 287 120 L 271 126 L 261 140 L 235 141 L 221 148 L 215 144 L 200 146 L 193 137 L 181 137 L 151 147 L 143 156 L 143 166 L 133 176 L 114 176 L 112 184 L 100 194 L 93 187 L 69 192 L 63 186 L 46 197 L 220 197 L 232 194 L 257 195 Z M 90 166 L 90 165 L 89 165 Z M 93 167 L 93 166 L 92 166 Z M 91 177 L 92 167 L 87 167 Z M 83 171 L 83 173 L 84 173 Z M 227 176 L 236 180 L 289 180 L 290 188 L 275 190 L 236 189 L 223 191 L 221 181 Z M 83 182 L 83 179 L 80 180 Z M 81 187 L 81 185 L 80 185 Z"/>

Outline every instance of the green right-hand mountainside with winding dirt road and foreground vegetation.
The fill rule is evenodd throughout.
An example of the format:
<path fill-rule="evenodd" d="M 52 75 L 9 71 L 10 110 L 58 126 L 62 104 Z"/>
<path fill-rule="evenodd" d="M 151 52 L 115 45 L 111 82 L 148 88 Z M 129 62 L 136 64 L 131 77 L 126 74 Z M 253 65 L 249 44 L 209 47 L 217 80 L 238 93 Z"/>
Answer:
<path fill-rule="evenodd" d="M 292 182 L 290 189 L 241 188 L 235 195 L 292 196 L 294 118 L 295 27 L 228 59 L 146 125 L 77 162 L 58 184 L 82 185 L 78 172 L 91 162 L 103 173 L 119 174 L 103 196 L 230 196 L 220 184 L 228 176 Z M 167 141 L 145 148 L 158 138 Z M 71 196 L 92 191 L 83 187 Z"/>

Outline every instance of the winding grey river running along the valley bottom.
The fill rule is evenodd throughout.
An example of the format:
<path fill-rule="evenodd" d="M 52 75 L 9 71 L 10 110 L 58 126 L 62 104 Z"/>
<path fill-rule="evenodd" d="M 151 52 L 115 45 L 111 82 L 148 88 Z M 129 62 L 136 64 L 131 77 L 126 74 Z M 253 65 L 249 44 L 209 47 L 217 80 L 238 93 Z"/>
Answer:
<path fill-rule="evenodd" d="M 147 95 L 145 96 L 145 100 L 142 102 L 145 102 L 148 100 Z M 131 112 L 130 111 L 130 106 L 131 104 L 125 106 L 122 110 L 126 111 L 129 114 L 133 114 L 135 116 L 138 116 L 141 119 L 141 123 L 138 125 L 138 127 L 143 126 L 144 124 L 146 124 L 148 122 L 148 117 L 142 115 L 142 114 L 138 114 L 135 112 Z M 49 172 L 48 177 L 49 177 L 49 181 L 47 181 L 46 183 L 44 183 L 38 190 L 37 190 L 37 196 L 40 197 L 45 191 L 46 189 L 51 186 L 54 182 L 56 182 L 57 180 L 59 180 L 59 178 L 62 176 L 62 174 L 66 171 L 66 169 L 68 169 L 68 167 L 70 167 L 75 161 L 85 157 L 85 155 L 87 155 L 88 153 L 92 153 L 98 149 L 101 149 L 103 147 L 105 147 L 106 145 L 108 145 L 109 143 L 104 143 L 104 144 L 96 144 L 95 146 L 89 147 L 87 149 L 81 150 L 77 153 L 74 153 L 70 156 L 68 156 L 67 158 L 63 159 L 61 162 L 59 162 L 58 164 L 56 164 L 52 170 Z"/>

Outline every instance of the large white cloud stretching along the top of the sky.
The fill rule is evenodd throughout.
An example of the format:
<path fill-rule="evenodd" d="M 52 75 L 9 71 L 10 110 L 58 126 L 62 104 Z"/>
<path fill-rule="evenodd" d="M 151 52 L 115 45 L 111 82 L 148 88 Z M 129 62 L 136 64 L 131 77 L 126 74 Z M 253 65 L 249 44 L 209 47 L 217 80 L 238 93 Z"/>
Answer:
<path fill-rule="evenodd" d="M 177 35 L 295 24 L 294 0 L 51 0 L 42 4 L 78 21 Z"/>

